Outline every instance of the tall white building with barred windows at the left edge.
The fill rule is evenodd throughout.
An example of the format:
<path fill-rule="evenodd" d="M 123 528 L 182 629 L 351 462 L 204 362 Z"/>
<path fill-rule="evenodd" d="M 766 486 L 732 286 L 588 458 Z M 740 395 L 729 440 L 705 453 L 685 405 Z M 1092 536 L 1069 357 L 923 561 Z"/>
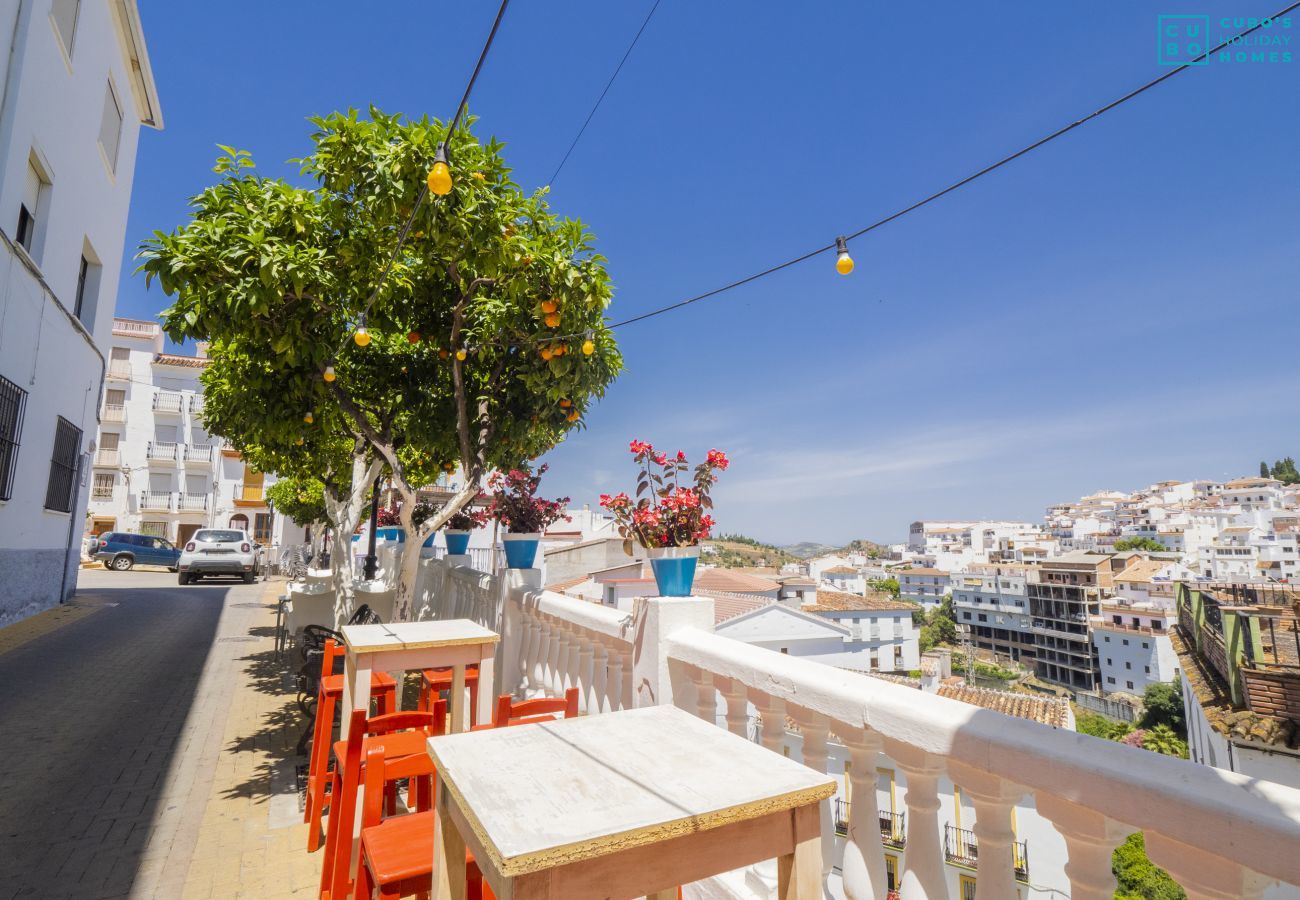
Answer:
<path fill-rule="evenodd" d="M 0 624 L 75 589 L 142 126 L 134 0 L 0 7 Z"/>

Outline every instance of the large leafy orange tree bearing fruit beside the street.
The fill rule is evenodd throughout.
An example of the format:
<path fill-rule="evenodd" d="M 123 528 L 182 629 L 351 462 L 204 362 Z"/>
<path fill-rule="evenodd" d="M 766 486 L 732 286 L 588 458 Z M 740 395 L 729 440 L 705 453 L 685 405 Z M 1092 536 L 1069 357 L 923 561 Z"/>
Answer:
<path fill-rule="evenodd" d="M 621 368 L 592 235 L 511 181 L 502 144 L 477 140 L 472 121 L 448 135 L 373 108 L 315 118 L 315 151 L 296 160 L 309 186 L 263 178 L 222 147 L 222 177 L 190 221 L 142 247 L 147 278 L 174 297 L 168 334 L 212 341 L 213 367 L 244 362 L 257 407 L 244 415 L 260 424 L 242 440 L 292 457 L 329 429 L 389 471 L 407 529 L 399 611 L 424 538 L 486 471 L 580 428 Z M 441 142 L 454 183 L 430 200 Z M 416 490 L 458 466 L 464 489 L 415 525 Z"/>

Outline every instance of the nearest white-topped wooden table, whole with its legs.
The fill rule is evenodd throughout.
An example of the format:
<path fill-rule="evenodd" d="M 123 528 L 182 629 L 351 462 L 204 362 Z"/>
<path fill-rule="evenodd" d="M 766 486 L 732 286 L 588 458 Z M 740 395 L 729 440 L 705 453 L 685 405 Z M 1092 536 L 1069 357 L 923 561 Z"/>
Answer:
<path fill-rule="evenodd" d="M 822 897 L 835 782 L 675 706 L 432 737 L 429 756 L 436 900 L 464 899 L 465 847 L 502 900 L 676 900 L 774 857 L 781 900 Z"/>

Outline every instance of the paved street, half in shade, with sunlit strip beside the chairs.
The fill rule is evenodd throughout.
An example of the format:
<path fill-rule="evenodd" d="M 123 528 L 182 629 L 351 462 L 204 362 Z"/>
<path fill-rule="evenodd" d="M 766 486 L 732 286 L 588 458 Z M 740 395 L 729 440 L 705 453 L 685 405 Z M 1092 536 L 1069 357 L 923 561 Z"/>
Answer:
<path fill-rule="evenodd" d="M 0 629 L 0 897 L 315 891 L 282 587 L 87 570 L 75 606 Z"/>

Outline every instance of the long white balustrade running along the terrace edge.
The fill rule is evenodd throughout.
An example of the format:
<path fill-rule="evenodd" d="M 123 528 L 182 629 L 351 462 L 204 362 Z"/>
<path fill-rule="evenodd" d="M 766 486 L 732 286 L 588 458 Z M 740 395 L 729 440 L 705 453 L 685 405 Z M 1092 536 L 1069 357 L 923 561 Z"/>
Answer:
<path fill-rule="evenodd" d="M 471 618 L 500 633 L 499 693 L 577 687 L 586 714 L 673 702 L 775 752 L 793 721 L 802 761 L 820 771 L 832 740 L 846 748 L 848 835 L 836 840 L 831 801 L 822 834 L 823 875 L 838 869 L 848 897 L 885 896 L 880 754 L 906 780 L 905 897 L 949 896 L 940 778 L 974 805 L 980 897 L 1017 896 L 1010 822 L 1026 795 L 1063 839 L 1060 878 L 1076 900 L 1112 896 L 1112 852 L 1139 830 L 1150 860 L 1190 897 L 1257 899 L 1274 882 L 1300 886 L 1300 789 L 722 637 L 708 600 L 637 600 L 623 613 L 540 590 L 536 572 L 490 576 L 436 559 L 421 567 L 413 618 Z"/>

